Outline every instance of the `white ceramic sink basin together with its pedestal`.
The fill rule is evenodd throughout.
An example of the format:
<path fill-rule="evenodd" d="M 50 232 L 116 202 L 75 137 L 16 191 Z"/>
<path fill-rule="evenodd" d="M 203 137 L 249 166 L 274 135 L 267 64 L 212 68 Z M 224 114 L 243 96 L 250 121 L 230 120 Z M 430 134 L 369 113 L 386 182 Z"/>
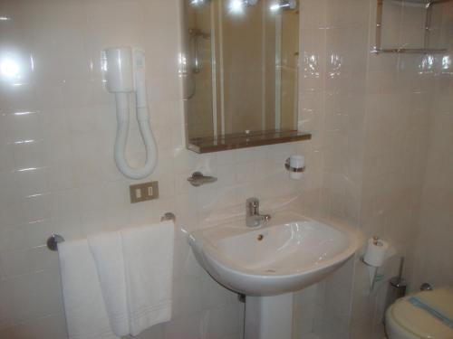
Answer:
<path fill-rule="evenodd" d="M 259 228 L 232 221 L 194 231 L 188 241 L 212 278 L 246 295 L 245 339 L 291 339 L 293 292 L 342 266 L 362 237 L 286 211 Z"/>

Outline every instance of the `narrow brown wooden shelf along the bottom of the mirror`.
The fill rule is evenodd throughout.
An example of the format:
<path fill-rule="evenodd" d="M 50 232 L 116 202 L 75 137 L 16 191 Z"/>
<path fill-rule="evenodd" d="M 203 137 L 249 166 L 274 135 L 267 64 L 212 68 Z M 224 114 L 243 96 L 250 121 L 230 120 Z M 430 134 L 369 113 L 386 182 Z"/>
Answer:
<path fill-rule="evenodd" d="M 312 134 L 296 130 L 259 131 L 221 137 L 196 137 L 188 140 L 188 149 L 196 153 L 212 153 L 230 149 L 283 144 L 310 140 Z"/>

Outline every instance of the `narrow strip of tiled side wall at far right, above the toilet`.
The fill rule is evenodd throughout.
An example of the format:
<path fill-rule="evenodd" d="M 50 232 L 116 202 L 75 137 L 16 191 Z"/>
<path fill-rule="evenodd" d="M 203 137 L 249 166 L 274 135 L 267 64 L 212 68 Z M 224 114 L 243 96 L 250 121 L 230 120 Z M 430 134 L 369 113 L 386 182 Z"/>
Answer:
<path fill-rule="evenodd" d="M 442 8 L 440 38 L 450 48 L 436 65 L 438 81 L 429 129 L 427 169 L 419 215 L 412 280 L 441 287 L 453 284 L 453 4 Z"/>

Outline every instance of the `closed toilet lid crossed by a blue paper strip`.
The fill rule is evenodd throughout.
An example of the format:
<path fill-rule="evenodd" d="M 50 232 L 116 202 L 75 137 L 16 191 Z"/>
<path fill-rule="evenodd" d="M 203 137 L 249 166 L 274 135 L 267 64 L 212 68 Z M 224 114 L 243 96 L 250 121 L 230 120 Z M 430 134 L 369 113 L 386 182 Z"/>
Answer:
<path fill-rule="evenodd" d="M 411 297 L 421 301 L 432 310 L 453 320 L 453 288 L 439 288 L 401 298 L 390 308 L 390 316 L 406 331 L 426 339 L 453 339 L 453 328 L 427 310 L 414 306 Z M 413 302 L 414 299 L 411 299 Z"/>

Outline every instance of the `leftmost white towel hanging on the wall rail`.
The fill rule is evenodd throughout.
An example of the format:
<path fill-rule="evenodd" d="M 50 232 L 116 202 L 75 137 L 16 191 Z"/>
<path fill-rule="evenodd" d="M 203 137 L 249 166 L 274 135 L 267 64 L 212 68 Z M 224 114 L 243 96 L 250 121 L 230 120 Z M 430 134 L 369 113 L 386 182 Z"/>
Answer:
<path fill-rule="evenodd" d="M 58 245 L 64 312 L 70 339 L 115 339 L 87 240 Z"/>

